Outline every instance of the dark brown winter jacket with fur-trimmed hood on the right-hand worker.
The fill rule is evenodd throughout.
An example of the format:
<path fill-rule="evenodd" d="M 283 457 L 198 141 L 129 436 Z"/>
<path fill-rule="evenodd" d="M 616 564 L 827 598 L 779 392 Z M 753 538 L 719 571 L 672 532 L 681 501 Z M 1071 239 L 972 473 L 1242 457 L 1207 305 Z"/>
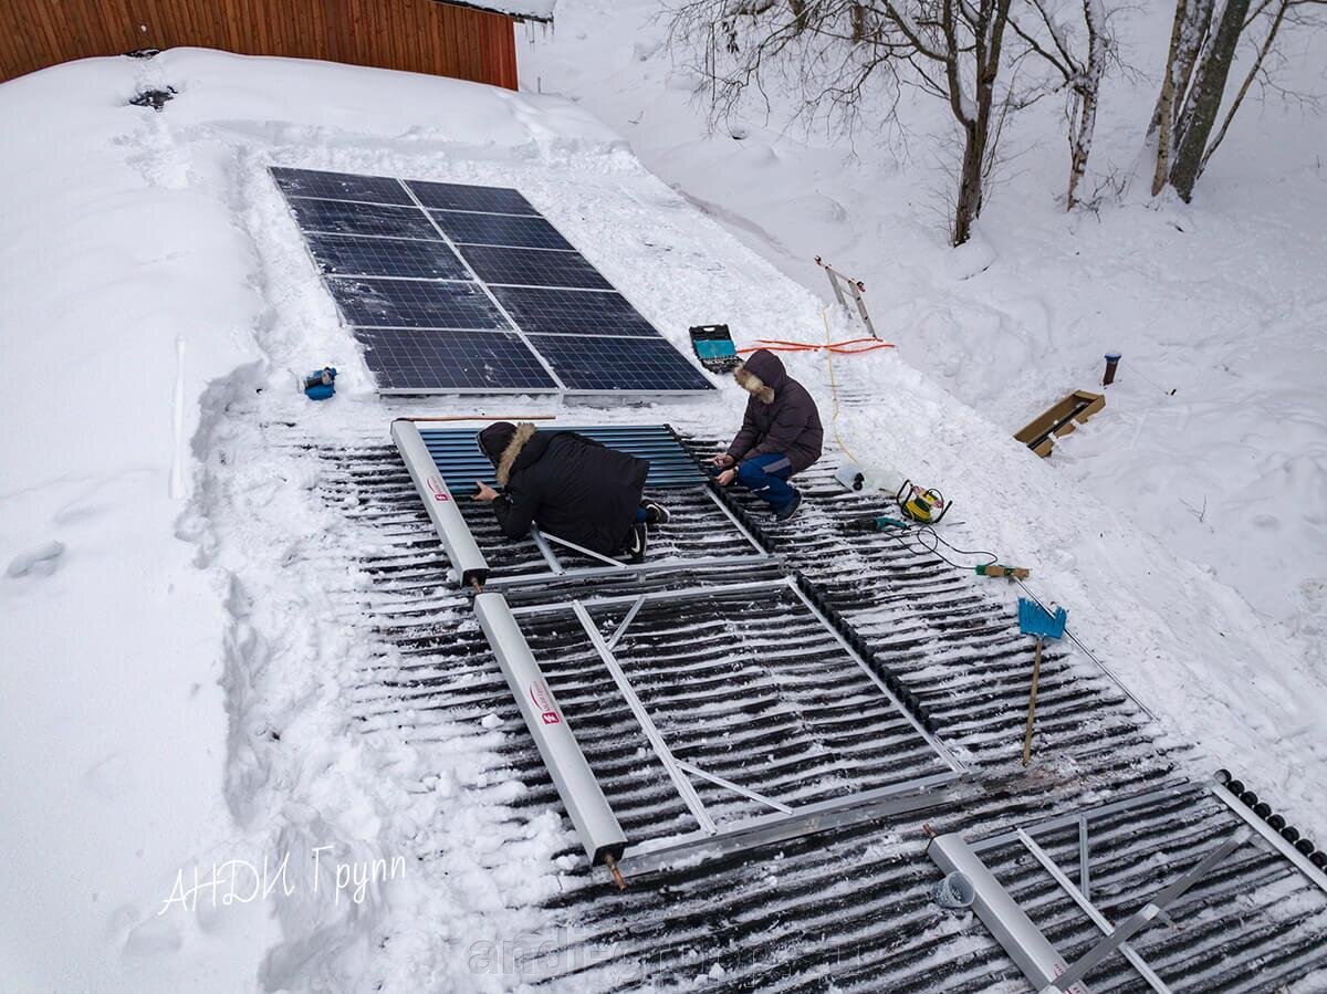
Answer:
<path fill-rule="evenodd" d="M 734 377 L 747 393 L 742 430 L 729 446 L 735 462 L 767 453 L 783 453 L 794 472 L 820 458 L 824 427 L 807 388 L 790 377 L 772 352 L 756 349 Z"/>

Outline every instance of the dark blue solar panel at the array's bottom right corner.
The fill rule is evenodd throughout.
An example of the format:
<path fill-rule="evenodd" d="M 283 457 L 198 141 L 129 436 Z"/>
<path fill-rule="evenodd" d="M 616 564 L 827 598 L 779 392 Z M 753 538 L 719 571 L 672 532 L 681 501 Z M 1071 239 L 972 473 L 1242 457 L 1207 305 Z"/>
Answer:
<path fill-rule="evenodd" d="M 707 390 L 709 381 L 662 338 L 531 334 L 568 390 Z"/>

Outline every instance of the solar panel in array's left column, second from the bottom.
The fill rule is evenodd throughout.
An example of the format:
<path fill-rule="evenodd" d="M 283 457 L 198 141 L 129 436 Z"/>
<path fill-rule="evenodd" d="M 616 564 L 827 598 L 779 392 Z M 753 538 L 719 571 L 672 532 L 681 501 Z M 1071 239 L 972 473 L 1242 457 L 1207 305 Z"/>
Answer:
<path fill-rule="evenodd" d="M 476 283 L 328 279 L 348 324 L 358 328 L 511 329 Z"/>

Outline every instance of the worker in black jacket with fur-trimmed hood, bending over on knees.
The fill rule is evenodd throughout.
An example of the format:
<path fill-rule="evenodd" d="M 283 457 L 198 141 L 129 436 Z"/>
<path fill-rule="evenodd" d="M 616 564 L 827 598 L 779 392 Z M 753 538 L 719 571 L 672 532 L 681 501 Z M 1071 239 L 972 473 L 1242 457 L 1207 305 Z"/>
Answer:
<path fill-rule="evenodd" d="M 479 433 L 498 471 L 499 494 L 482 480 L 476 500 L 492 504 L 503 535 L 519 539 L 537 524 L 547 535 L 601 556 L 645 557 L 646 526 L 669 514 L 642 496 L 650 464 L 575 431 L 537 431 L 499 421 Z"/>

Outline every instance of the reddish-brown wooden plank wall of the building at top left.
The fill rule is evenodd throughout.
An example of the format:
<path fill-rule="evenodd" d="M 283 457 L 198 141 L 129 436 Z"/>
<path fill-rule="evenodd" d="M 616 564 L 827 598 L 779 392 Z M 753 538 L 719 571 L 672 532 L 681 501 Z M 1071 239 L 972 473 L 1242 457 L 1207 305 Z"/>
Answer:
<path fill-rule="evenodd" d="M 516 89 L 512 20 L 434 0 L 0 0 L 0 80 L 70 58 L 176 45 Z"/>

